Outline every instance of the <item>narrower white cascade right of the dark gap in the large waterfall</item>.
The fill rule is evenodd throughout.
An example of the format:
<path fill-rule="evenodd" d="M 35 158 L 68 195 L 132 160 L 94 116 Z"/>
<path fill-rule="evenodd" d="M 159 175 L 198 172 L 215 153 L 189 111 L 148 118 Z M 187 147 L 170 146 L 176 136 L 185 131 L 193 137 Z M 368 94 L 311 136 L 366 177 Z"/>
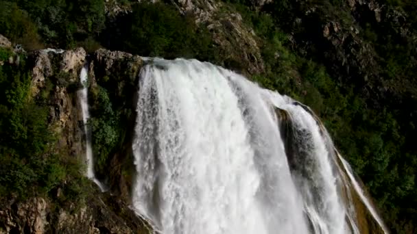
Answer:
<path fill-rule="evenodd" d="M 293 174 L 313 229 L 315 233 L 345 233 L 345 211 L 337 194 L 336 178 L 319 126 L 299 105 L 287 105 L 283 109 L 289 112 L 296 125 L 295 135 L 301 154 L 297 163 L 302 166 Z"/>

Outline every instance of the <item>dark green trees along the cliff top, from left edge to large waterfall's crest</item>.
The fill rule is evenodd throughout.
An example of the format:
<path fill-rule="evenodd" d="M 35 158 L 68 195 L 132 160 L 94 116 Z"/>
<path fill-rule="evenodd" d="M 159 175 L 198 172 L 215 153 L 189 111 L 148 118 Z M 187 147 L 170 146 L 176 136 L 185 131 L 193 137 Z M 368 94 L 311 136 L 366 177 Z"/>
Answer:
<path fill-rule="evenodd" d="M 123 1 L 130 5 L 130 1 Z M 173 5 L 143 1 L 132 14 L 106 21 L 104 1 L 0 1 L 0 34 L 25 49 L 99 47 L 143 56 L 213 60 L 213 42 L 206 27 Z"/>

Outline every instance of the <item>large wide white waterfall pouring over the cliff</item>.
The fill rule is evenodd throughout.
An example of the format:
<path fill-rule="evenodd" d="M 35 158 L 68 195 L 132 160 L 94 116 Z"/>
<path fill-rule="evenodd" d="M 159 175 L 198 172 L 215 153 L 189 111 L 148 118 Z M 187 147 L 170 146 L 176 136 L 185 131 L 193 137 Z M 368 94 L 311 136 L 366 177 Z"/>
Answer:
<path fill-rule="evenodd" d="M 308 107 L 209 63 L 147 63 L 132 203 L 157 231 L 361 233 L 365 207 L 386 233 Z"/>

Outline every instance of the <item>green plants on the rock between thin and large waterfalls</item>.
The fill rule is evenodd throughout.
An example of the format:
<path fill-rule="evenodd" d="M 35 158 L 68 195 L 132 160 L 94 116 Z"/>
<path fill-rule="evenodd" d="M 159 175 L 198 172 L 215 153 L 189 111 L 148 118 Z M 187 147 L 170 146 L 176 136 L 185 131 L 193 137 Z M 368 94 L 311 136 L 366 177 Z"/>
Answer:
<path fill-rule="evenodd" d="M 117 155 L 117 164 L 112 164 L 112 172 L 123 164 L 125 148 L 130 146 L 136 93 L 136 77 L 129 71 L 137 69 L 136 61 L 117 61 L 117 68 L 107 71 L 108 75 L 96 77 L 94 85 L 89 86 L 89 103 L 92 129 L 92 146 L 95 154 L 95 172 L 97 177 L 108 179 L 110 160 Z M 139 73 L 139 70 L 136 70 Z M 134 72 L 133 72 L 134 73 Z M 128 79 L 126 79 L 128 78 Z"/>

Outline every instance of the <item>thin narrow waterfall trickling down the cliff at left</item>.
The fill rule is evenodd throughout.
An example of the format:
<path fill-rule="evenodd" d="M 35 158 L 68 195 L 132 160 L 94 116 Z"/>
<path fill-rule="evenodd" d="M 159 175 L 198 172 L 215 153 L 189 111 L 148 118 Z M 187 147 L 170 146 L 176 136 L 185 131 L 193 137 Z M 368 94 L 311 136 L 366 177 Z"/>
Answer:
<path fill-rule="evenodd" d="M 91 148 L 91 131 L 88 129 L 88 118 L 90 118 L 90 112 L 88 111 L 88 86 L 86 84 L 88 79 L 88 64 L 82 67 L 80 73 L 80 82 L 82 83 L 82 90 L 79 92 L 80 104 L 82 109 L 82 122 L 84 123 L 84 133 L 86 134 L 86 163 L 87 163 L 87 177 L 94 181 L 102 192 L 106 191 L 106 187 L 98 179 L 95 178 L 94 173 L 94 160 L 93 149 Z"/>

